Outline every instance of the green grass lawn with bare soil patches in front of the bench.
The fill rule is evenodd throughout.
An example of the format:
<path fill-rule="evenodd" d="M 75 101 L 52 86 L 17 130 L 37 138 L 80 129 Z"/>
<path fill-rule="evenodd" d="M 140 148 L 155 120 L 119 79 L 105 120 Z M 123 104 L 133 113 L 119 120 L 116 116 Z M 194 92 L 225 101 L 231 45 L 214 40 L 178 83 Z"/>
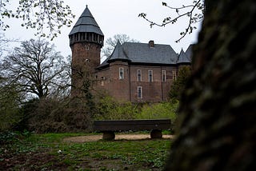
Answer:
<path fill-rule="evenodd" d="M 162 170 L 171 141 L 65 142 L 85 133 L 19 137 L 0 147 L 0 170 Z"/>

